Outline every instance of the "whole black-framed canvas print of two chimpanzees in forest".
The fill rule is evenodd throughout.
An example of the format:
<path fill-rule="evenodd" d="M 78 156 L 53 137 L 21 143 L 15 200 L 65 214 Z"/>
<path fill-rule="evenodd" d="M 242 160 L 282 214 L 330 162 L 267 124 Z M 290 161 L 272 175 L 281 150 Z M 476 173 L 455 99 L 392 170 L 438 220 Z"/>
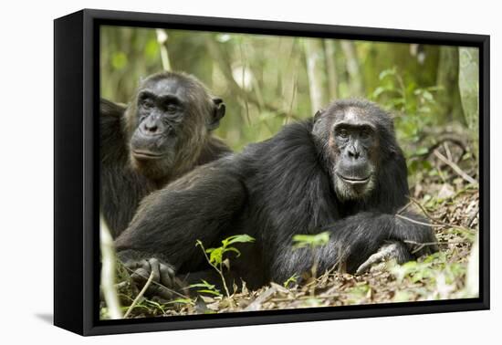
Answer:
<path fill-rule="evenodd" d="M 54 64 L 57 326 L 489 308 L 489 37 L 86 9 Z"/>

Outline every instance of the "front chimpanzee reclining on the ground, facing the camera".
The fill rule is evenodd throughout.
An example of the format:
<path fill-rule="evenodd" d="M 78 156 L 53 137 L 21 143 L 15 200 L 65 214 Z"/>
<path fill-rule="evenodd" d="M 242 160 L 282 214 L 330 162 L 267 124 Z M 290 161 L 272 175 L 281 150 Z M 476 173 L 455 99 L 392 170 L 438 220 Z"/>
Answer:
<path fill-rule="evenodd" d="M 173 271 L 201 277 L 207 264 L 197 239 L 207 248 L 235 234 L 256 238 L 239 246 L 229 272 L 252 288 L 308 271 L 314 256 L 319 272 L 355 272 L 382 249 L 404 262 L 437 250 L 422 217 L 396 215 L 407 203 L 406 174 L 389 115 L 368 101 L 340 100 L 152 193 L 115 244 L 139 280 L 153 271 L 164 285 Z M 293 235 L 327 230 L 327 246 L 292 250 Z M 413 251 L 420 243 L 428 246 Z"/>

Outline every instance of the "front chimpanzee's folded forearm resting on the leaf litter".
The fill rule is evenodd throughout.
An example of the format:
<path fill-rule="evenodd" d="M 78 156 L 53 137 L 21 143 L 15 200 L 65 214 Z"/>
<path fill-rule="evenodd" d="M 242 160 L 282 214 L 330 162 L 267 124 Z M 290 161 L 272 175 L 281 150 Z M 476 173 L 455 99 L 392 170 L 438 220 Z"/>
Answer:
<path fill-rule="evenodd" d="M 424 223 L 417 214 L 403 213 L 415 222 Z M 308 271 L 314 263 L 322 273 L 333 267 L 355 273 L 368 257 L 388 243 L 397 243 L 394 256 L 398 262 L 437 251 L 434 231 L 430 226 L 405 220 L 395 214 L 361 212 L 329 226 L 329 244 L 317 248 L 293 249 L 282 245 L 273 262 L 272 280 L 282 283 L 294 274 Z M 413 252 L 407 243 L 429 244 Z"/>

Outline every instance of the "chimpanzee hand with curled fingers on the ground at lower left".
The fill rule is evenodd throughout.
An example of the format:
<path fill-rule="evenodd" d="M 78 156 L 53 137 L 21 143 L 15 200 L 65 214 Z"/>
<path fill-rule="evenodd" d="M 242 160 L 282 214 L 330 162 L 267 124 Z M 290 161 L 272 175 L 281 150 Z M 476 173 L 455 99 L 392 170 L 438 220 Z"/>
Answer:
<path fill-rule="evenodd" d="M 160 298 L 173 298 L 173 290 L 180 288 L 171 265 L 151 257 L 148 259 L 130 259 L 124 263 L 129 268 L 131 279 L 138 288 L 143 288 L 150 275 L 152 282 L 145 291 L 146 296 L 158 296 Z"/>

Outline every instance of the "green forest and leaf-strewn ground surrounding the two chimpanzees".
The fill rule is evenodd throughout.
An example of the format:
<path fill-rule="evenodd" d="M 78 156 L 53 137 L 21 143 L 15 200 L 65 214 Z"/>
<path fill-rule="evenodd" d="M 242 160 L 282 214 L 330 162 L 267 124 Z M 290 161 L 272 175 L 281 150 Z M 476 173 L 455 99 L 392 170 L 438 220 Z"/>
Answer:
<path fill-rule="evenodd" d="M 329 276 L 342 297 L 318 305 L 476 295 L 477 250 L 470 278 L 466 272 L 479 222 L 477 48 L 101 26 L 101 97 L 128 103 L 141 78 L 162 70 L 193 74 L 225 100 L 216 134 L 237 152 L 333 99 L 366 98 L 390 110 L 413 203 L 434 224 L 442 252 L 384 277 Z M 305 299 L 302 288 L 288 291 L 271 296 Z M 239 303 L 231 305 L 214 310 Z M 134 308 L 132 317 L 195 312 L 189 302 L 158 308 L 144 300 Z"/>

